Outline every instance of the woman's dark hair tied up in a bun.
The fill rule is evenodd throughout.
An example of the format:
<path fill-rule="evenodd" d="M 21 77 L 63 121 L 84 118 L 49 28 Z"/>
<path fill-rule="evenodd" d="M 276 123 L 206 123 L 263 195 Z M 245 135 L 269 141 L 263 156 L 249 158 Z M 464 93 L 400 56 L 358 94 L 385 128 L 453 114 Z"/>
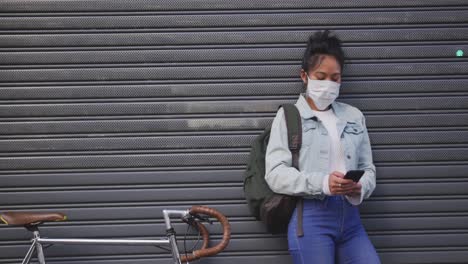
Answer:
<path fill-rule="evenodd" d="M 328 30 L 315 32 L 309 37 L 302 58 L 302 69 L 308 72 L 310 68 L 315 68 L 320 64 L 323 55 L 333 56 L 343 69 L 345 56 L 341 41 Z"/>

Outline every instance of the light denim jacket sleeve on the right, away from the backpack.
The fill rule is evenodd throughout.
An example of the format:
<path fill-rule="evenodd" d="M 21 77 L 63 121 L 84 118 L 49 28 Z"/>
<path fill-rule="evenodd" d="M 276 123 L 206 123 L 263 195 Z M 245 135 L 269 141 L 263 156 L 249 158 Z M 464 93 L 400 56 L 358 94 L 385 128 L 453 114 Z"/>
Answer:
<path fill-rule="evenodd" d="M 362 203 L 364 199 L 369 198 L 376 185 L 375 166 L 372 161 L 372 149 L 364 116 L 361 122 L 364 128 L 364 135 L 358 148 L 358 170 L 364 170 L 365 173 L 359 181 L 362 185 L 361 197 L 347 197 L 348 201 L 354 205 L 358 205 Z"/>

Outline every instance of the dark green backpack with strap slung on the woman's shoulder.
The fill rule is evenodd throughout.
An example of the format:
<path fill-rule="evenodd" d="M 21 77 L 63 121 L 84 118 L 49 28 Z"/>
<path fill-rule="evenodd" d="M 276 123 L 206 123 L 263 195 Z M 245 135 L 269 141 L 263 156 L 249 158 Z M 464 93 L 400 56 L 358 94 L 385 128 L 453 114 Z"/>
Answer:
<path fill-rule="evenodd" d="M 302 122 L 295 105 L 281 106 L 288 129 L 288 145 L 292 165 L 299 170 L 299 151 L 302 144 Z M 244 193 L 250 212 L 261 220 L 272 234 L 286 233 L 289 220 L 298 207 L 297 235 L 302 236 L 302 198 L 273 192 L 265 181 L 265 153 L 270 139 L 271 127 L 267 127 L 252 144 L 247 169 L 244 172 Z"/>

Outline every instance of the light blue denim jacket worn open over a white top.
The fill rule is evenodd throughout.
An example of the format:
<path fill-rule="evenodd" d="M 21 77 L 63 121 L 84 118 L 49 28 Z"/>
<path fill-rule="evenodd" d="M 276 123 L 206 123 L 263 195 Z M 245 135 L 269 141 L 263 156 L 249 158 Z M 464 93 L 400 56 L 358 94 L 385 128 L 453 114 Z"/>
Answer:
<path fill-rule="evenodd" d="M 302 146 L 299 155 L 299 171 L 292 167 L 292 155 L 288 148 L 288 136 L 283 109 L 279 109 L 271 127 L 270 140 L 265 156 L 265 180 L 277 193 L 323 199 L 322 182 L 330 172 L 328 132 L 314 115 L 304 95 L 296 102 L 302 119 Z M 361 197 L 355 204 L 369 198 L 375 189 L 375 166 L 367 134 L 365 118 L 361 111 L 348 104 L 334 102 L 332 109 L 338 118 L 338 135 L 344 149 L 346 170 L 364 170 L 359 181 Z"/>

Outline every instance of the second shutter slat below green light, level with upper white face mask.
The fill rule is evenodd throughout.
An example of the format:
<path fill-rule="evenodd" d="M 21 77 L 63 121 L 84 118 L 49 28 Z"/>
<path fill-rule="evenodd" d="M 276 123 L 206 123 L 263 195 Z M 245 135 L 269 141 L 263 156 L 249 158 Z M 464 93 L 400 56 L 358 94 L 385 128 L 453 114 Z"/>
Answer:
<path fill-rule="evenodd" d="M 101 98 L 165 98 L 184 99 L 192 96 L 284 96 L 298 95 L 302 85 L 296 82 L 249 82 L 249 83 L 184 83 L 184 84 L 114 84 L 114 85 L 70 85 L 68 82 L 54 86 L 1 86 L 1 100 L 32 99 L 94 99 Z M 421 80 L 344 80 L 340 94 L 371 93 L 449 93 L 466 92 L 468 79 L 421 79 Z"/>

